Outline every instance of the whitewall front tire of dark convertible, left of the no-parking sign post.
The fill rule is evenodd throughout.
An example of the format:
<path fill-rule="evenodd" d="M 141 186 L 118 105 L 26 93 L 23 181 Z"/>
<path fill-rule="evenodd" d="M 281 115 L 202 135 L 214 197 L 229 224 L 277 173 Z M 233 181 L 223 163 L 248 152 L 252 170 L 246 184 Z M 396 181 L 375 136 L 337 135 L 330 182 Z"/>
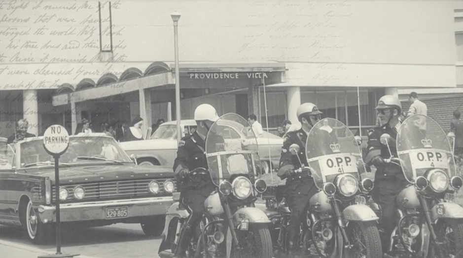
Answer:
<path fill-rule="evenodd" d="M 34 207 L 32 206 L 32 201 L 27 202 L 25 209 L 25 223 L 26 230 L 29 237 L 29 240 L 34 244 L 48 244 L 53 241 L 53 232 L 52 224 L 43 224 L 38 218 Z"/>

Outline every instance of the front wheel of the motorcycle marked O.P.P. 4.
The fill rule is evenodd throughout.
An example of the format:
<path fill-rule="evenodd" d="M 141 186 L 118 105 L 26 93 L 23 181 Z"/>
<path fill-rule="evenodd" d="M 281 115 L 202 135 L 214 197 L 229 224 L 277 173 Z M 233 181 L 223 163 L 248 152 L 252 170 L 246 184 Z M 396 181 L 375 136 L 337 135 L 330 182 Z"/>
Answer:
<path fill-rule="evenodd" d="M 431 244 L 429 258 L 463 258 L 463 222 L 441 220 L 434 230 L 439 244 Z"/>

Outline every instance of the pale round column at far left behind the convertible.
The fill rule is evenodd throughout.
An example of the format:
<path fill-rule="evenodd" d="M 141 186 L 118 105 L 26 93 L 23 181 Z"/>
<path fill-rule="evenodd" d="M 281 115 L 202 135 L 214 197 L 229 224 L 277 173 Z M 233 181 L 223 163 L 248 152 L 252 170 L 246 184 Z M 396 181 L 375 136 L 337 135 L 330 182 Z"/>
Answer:
<path fill-rule="evenodd" d="M 28 132 L 38 136 L 37 90 L 23 91 L 23 118 L 29 122 Z"/>

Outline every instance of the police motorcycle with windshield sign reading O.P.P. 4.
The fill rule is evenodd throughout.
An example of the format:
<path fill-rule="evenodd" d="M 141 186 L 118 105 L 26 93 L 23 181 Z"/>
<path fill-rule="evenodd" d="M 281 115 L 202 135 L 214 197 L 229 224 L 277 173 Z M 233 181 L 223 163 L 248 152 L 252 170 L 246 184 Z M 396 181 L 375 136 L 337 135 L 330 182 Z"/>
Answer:
<path fill-rule="evenodd" d="M 385 133 L 381 143 L 389 150 L 391 144 L 397 146 L 398 157 L 385 161 L 401 166 L 409 183 L 395 199 L 397 224 L 389 251 L 417 258 L 463 258 L 463 208 L 453 202 L 463 180 L 444 130 L 417 114 L 405 119 L 396 139 Z"/>

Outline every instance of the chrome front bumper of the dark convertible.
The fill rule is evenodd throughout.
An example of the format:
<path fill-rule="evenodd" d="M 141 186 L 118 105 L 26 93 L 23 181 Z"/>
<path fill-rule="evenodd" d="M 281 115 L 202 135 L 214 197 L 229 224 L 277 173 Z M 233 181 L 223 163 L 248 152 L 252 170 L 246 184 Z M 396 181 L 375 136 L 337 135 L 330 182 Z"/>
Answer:
<path fill-rule="evenodd" d="M 173 202 L 172 196 L 165 196 L 141 199 L 63 203 L 60 204 L 60 221 L 73 222 L 107 220 L 106 208 L 110 207 L 127 207 L 127 217 L 125 218 L 163 215 L 166 214 Z M 56 221 L 55 205 L 39 205 L 37 207 L 37 211 L 38 217 L 42 223 Z"/>

